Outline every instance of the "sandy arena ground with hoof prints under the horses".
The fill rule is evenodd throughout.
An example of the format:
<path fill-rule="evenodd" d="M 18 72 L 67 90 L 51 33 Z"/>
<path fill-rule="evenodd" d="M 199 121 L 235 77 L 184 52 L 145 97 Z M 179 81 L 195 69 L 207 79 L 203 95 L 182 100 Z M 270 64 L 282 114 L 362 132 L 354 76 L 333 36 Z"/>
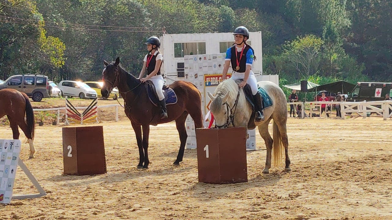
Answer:
<path fill-rule="evenodd" d="M 93 176 L 63 175 L 61 126 L 37 126 L 36 158 L 27 160 L 26 143 L 21 158 L 48 194 L 0 206 L 0 219 L 392 219 L 391 123 L 289 119 L 292 171 L 282 163 L 262 174 L 265 151 L 248 152 L 249 182 L 225 185 L 198 182 L 195 150 L 172 166 L 180 144 L 174 123 L 151 126 L 148 170 L 136 169 L 129 121 L 100 123 L 108 172 Z M 1 126 L 0 139 L 11 137 Z M 36 193 L 22 170 L 16 175 L 14 195 Z"/>

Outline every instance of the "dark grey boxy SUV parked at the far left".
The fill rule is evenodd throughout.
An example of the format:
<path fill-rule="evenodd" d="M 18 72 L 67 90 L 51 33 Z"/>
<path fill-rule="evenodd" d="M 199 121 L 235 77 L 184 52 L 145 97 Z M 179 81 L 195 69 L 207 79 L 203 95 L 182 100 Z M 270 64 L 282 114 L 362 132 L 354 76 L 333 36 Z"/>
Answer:
<path fill-rule="evenodd" d="M 0 84 L 0 89 L 13 88 L 19 92 L 24 92 L 33 101 L 39 102 L 43 98 L 49 98 L 49 80 L 47 76 L 41 74 L 22 74 L 10 76 L 4 84 Z"/>

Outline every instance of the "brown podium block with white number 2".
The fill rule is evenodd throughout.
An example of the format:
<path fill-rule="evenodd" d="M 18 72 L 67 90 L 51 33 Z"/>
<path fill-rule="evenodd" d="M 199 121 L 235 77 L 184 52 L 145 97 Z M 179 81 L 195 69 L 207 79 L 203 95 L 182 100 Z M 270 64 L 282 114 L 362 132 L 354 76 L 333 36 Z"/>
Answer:
<path fill-rule="evenodd" d="M 63 128 L 64 174 L 106 173 L 102 126 Z"/>

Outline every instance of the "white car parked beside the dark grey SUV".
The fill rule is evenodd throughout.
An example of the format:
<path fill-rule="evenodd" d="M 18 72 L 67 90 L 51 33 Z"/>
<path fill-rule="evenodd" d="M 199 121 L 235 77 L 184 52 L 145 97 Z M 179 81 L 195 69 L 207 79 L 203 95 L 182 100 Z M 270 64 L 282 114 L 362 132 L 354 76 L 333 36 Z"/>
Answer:
<path fill-rule="evenodd" d="M 85 98 L 96 98 L 97 93 L 85 83 L 79 81 L 63 80 L 58 84 L 62 96 Z"/>

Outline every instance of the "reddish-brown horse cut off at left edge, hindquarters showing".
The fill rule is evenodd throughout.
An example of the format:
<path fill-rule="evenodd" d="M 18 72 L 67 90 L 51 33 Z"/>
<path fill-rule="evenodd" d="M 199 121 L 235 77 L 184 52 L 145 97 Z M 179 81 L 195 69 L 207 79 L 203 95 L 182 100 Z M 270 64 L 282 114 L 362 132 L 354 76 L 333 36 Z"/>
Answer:
<path fill-rule="evenodd" d="M 7 115 L 9 124 L 12 129 L 13 139 L 19 139 L 19 129 L 29 140 L 30 157 L 34 158 L 35 148 L 33 144 L 34 139 L 34 112 L 33 107 L 26 94 L 19 92 L 12 88 L 5 88 L 0 90 L 0 118 Z M 26 121 L 25 121 L 26 115 Z"/>

